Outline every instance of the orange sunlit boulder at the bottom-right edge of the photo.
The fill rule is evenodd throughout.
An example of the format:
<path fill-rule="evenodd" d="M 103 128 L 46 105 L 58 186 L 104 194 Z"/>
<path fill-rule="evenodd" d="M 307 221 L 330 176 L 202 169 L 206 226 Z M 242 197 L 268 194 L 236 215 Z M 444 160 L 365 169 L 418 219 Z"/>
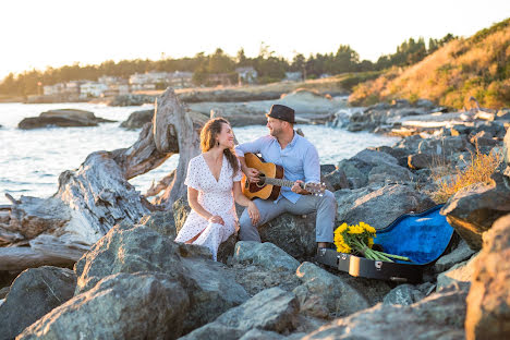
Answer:
<path fill-rule="evenodd" d="M 467 295 L 466 339 L 506 339 L 510 333 L 510 215 L 483 235 Z"/>

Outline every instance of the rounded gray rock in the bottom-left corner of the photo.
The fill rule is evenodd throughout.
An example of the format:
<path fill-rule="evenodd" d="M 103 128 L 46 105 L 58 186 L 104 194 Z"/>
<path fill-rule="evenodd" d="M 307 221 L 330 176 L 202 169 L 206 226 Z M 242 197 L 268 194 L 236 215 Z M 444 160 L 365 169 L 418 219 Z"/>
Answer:
<path fill-rule="evenodd" d="M 13 339 L 45 314 L 73 298 L 76 275 L 65 268 L 26 269 L 0 305 L 0 339 Z"/>

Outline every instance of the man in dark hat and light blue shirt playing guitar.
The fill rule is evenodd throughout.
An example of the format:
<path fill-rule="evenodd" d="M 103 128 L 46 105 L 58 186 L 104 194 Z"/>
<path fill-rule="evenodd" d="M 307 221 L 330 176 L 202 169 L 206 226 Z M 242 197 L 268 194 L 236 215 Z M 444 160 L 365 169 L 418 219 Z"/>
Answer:
<path fill-rule="evenodd" d="M 327 247 L 333 242 L 333 224 L 337 214 L 337 202 L 331 192 L 326 191 L 323 196 L 311 195 L 300 186 L 300 183 L 319 183 L 320 163 L 315 146 L 294 131 L 294 110 L 274 105 L 267 117 L 269 135 L 243 143 L 235 147 L 241 162 L 241 169 L 250 182 L 258 182 L 258 171 L 246 166 L 244 154 L 260 154 L 266 162 L 283 167 L 286 180 L 294 181 L 294 185 L 282 187 L 275 201 L 255 198 L 254 203 L 260 212 L 256 226 L 252 224 L 246 210 L 240 218 L 240 238 L 243 241 L 258 241 L 257 227 L 262 226 L 283 212 L 304 215 L 317 211 L 316 242 L 318 247 Z"/>

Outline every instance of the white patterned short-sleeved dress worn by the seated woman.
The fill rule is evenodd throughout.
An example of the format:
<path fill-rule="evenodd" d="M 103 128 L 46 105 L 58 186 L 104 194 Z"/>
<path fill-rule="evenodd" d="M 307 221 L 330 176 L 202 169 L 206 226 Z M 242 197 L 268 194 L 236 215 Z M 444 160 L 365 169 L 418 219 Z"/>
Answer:
<path fill-rule="evenodd" d="M 242 173 L 239 170 L 233 178 L 232 173 L 233 169 L 224 155 L 218 181 L 202 154 L 190 160 L 184 184 L 198 191 L 198 203 L 210 214 L 220 216 L 224 226 L 210 223 L 192 209 L 175 242 L 186 242 L 203 231 L 193 244 L 207 246 L 217 260 L 219 245 L 235 232 L 238 224 L 232 186 L 233 182 L 241 181 Z"/>

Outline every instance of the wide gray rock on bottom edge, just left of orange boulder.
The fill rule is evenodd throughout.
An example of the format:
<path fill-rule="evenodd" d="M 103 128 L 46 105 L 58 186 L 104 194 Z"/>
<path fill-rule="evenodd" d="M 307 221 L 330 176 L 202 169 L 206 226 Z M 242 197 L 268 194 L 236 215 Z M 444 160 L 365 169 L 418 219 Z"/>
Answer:
<path fill-rule="evenodd" d="M 464 339 L 465 296 L 466 291 L 450 291 L 409 306 L 379 304 L 336 319 L 303 339 Z"/>

